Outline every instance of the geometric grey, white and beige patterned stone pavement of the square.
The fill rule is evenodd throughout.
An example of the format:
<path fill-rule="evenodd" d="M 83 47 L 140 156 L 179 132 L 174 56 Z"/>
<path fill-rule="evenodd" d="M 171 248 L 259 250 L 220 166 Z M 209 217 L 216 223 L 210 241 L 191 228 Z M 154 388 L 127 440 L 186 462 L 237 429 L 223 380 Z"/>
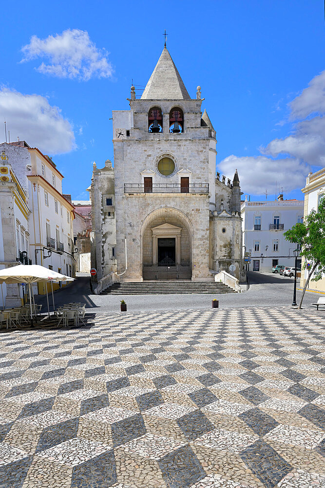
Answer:
<path fill-rule="evenodd" d="M 325 487 L 325 316 L 97 315 L 0 335 L 0 488 Z"/>

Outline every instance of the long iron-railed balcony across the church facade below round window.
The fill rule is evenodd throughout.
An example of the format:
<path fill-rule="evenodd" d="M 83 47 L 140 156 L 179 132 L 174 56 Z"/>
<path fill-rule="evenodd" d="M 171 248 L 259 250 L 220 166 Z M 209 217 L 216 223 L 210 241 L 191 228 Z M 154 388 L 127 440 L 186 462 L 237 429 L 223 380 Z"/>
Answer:
<path fill-rule="evenodd" d="M 209 183 L 190 183 L 181 186 L 180 183 L 124 183 L 124 193 L 191 193 L 197 195 L 209 194 Z"/>

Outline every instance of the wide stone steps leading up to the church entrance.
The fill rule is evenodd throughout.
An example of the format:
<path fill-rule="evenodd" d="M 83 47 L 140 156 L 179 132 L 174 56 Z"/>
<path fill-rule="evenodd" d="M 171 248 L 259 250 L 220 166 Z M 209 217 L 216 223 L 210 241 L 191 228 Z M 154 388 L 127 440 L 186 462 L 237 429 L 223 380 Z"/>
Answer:
<path fill-rule="evenodd" d="M 101 295 L 164 295 L 172 293 L 235 293 L 223 283 L 207 283 L 198 281 L 144 281 L 115 283 L 102 290 Z"/>

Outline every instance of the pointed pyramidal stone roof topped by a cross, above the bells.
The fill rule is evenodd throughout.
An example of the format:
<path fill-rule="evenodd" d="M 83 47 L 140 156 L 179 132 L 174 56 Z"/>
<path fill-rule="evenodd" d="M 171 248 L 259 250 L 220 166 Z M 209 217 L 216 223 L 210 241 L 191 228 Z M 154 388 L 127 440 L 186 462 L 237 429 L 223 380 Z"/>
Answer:
<path fill-rule="evenodd" d="M 163 52 L 153 70 L 142 100 L 191 100 L 168 49 Z"/>

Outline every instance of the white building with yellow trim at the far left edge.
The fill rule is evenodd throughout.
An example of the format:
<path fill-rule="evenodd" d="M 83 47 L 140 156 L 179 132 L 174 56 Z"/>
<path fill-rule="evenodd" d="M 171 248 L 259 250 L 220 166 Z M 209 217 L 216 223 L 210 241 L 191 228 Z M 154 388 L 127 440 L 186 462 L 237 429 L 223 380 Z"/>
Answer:
<path fill-rule="evenodd" d="M 27 195 L 22 188 L 5 152 L 0 155 L 0 269 L 15 266 L 17 260 L 28 264 L 29 232 Z M 2 301 L 3 293 L 3 301 Z M 0 306 L 22 304 L 21 285 L 2 285 Z M 4 302 L 4 304 L 3 304 Z"/>

